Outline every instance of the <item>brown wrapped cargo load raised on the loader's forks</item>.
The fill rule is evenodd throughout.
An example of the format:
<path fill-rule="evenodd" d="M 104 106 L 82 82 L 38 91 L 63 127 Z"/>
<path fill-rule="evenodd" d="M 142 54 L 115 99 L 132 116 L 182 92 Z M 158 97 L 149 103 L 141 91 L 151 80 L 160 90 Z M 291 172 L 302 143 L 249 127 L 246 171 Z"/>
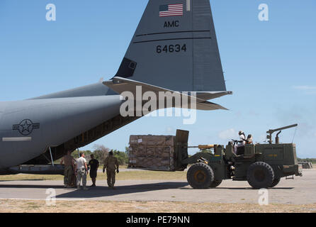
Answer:
<path fill-rule="evenodd" d="M 182 136 L 179 138 L 180 134 Z M 182 140 L 182 141 L 181 141 Z M 188 131 L 174 135 L 130 135 L 128 167 L 146 170 L 176 171 L 186 166 L 181 160 L 188 156 Z"/>

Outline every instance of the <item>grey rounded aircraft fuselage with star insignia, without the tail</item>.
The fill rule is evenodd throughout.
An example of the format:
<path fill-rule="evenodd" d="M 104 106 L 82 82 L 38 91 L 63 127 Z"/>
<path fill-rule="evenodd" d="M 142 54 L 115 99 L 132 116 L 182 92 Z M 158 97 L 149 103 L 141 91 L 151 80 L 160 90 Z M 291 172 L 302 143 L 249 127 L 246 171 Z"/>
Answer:
<path fill-rule="evenodd" d="M 20 165 L 117 116 L 119 95 L 0 102 L 0 169 Z"/>

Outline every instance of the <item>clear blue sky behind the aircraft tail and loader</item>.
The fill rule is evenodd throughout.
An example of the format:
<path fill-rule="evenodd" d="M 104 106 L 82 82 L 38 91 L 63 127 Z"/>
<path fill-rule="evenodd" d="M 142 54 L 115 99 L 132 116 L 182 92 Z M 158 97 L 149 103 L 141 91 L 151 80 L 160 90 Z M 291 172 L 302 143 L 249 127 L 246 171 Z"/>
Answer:
<path fill-rule="evenodd" d="M 145 117 L 86 146 L 124 150 L 131 134 L 190 131 L 190 145 L 227 144 L 239 130 L 262 142 L 283 131 L 298 157 L 316 157 L 316 1 L 210 1 L 227 90 L 213 100 L 230 111 L 198 111 L 183 118 Z M 57 21 L 46 21 L 55 4 Z M 259 4 L 269 21 L 259 21 Z M 0 1 L 0 101 L 28 99 L 110 79 L 118 70 L 147 0 Z M 295 134 L 294 140 L 293 135 Z M 190 150 L 195 153 L 196 150 Z"/>

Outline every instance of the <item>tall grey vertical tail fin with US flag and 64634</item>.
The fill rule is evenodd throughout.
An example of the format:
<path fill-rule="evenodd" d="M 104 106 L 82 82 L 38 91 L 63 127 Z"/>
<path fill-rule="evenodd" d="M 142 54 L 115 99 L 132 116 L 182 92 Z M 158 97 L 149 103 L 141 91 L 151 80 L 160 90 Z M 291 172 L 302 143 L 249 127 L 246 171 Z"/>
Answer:
<path fill-rule="evenodd" d="M 149 0 L 115 77 L 179 92 L 225 92 L 209 0 Z"/>

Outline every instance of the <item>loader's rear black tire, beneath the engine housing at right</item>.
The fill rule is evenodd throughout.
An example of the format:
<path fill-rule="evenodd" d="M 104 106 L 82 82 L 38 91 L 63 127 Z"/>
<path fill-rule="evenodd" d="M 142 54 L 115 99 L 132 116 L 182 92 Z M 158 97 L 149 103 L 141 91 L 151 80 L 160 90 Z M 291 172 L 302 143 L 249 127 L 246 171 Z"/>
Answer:
<path fill-rule="evenodd" d="M 254 162 L 247 170 L 247 181 L 254 189 L 271 187 L 273 179 L 273 169 L 266 162 Z"/>

